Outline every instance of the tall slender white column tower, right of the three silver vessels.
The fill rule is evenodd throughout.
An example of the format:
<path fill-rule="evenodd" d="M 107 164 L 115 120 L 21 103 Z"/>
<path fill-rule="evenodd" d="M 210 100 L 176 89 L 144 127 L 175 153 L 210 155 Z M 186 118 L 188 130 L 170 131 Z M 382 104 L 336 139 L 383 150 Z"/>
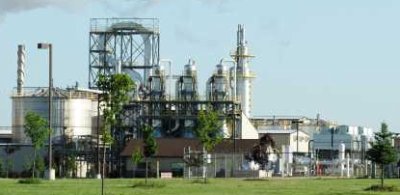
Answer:
<path fill-rule="evenodd" d="M 242 111 L 250 117 L 251 114 L 251 89 L 252 80 L 255 78 L 255 74 L 250 71 L 249 61 L 254 56 L 249 53 L 247 47 L 247 41 L 245 39 L 244 26 L 239 24 L 237 30 L 237 46 L 234 54 L 231 55 L 236 62 L 236 99 L 242 105 Z M 235 97 L 234 96 L 234 97 Z"/>

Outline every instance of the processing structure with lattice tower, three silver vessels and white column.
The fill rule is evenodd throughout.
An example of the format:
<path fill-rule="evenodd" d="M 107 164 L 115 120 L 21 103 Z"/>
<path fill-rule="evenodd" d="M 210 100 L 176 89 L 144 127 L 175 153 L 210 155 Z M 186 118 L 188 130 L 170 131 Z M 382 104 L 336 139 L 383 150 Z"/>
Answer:
<path fill-rule="evenodd" d="M 224 121 L 226 138 L 258 138 L 248 120 L 251 113 L 251 79 L 245 30 L 238 26 L 233 60 L 222 60 L 206 82 L 206 99 L 198 91 L 197 68 L 189 59 L 181 75 L 172 75 L 160 63 L 158 19 L 96 18 L 91 20 L 89 87 L 100 74 L 126 73 L 137 89 L 125 105 L 124 131 L 115 131 L 121 142 L 141 137 L 143 124 L 150 124 L 157 137 L 194 138 L 197 114 L 212 107 Z M 227 68 L 227 64 L 232 67 Z M 174 80 L 174 81 L 172 81 Z M 175 83 L 172 86 L 172 83 Z M 171 94 L 175 88 L 175 94 Z M 166 89 L 169 89 L 168 91 Z M 168 98 L 167 98 L 168 97 Z M 228 120 L 229 119 L 229 120 Z M 229 122 L 228 122 L 229 121 Z M 122 132 L 122 133 L 121 133 Z"/>

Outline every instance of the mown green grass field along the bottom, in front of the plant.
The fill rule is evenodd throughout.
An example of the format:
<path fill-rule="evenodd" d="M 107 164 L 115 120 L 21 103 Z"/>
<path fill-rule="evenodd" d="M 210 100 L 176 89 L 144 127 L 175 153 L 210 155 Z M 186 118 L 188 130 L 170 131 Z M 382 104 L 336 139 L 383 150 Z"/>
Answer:
<path fill-rule="evenodd" d="M 269 180 L 246 179 L 211 179 L 203 184 L 194 180 L 172 179 L 156 180 L 155 187 L 133 187 L 143 180 L 106 179 L 105 194 L 107 195 L 207 195 L 207 194 L 323 194 L 323 195 L 357 195 L 357 194 L 390 194 L 400 192 L 369 192 L 365 188 L 379 184 L 372 179 L 321 179 L 321 178 L 272 178 Z M 385 180 L 385 184 L 400 188 L 400 180 Z M 95 179 L 58 179 L 43 181 L 41 184 L 19 184 L 18 180 L 0 179 L 0 195 L 91 195 L 101 194 L 101 180 Z"/>

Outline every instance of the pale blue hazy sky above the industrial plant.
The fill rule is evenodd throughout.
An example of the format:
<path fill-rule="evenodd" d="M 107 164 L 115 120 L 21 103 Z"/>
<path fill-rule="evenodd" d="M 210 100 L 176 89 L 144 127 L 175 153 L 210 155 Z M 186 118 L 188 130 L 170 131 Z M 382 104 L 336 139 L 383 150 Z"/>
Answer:
<path fill-rule="evenodd" d="M 57 87 L 88 83 L 89 20 L 159 18 L 160 56 L 181 72 L 196 61 L 204 89 L 244 24 L 253 115 L 301 115 L 400 132 L 400 1 L 395 0 L 0 0 L 0 126 L 11 126 L 17 45 L 27 53 L 26 86 L 47 86 L 53 44 Z"/>

